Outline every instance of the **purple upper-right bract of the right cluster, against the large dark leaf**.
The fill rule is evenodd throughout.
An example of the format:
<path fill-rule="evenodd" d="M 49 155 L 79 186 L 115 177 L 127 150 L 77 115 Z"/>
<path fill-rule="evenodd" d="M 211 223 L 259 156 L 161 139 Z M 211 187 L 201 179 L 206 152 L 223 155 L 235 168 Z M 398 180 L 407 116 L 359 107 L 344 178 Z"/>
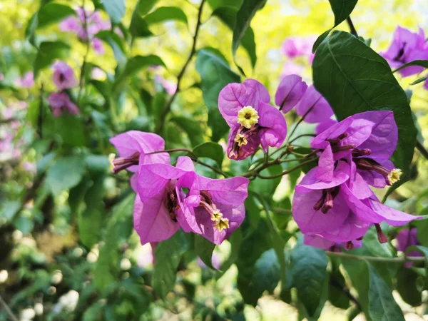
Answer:
<path fill-rule="evenodd" d="M 354 119 L 367 119 L 374 126 L 372 134 L 360 145 L 360 149 L 369 148 L 371 156 L 376 158 L 390 158 L 397 147 L 398 129 L 392 111 L 367 111 L 352 116 Z"/>

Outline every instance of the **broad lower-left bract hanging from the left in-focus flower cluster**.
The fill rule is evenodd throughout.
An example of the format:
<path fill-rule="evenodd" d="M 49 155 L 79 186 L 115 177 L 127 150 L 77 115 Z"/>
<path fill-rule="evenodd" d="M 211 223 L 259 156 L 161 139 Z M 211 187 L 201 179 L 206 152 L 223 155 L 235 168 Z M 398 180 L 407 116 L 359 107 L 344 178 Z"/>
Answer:
<path fill-rule="evenodd" d="M 143 245 L 166 240 L 179 228 L 178 223 L 170 218 L 162 198 L 163 193 L 160 193 L 142 203 L 136 195 L 133 224 Z"/>

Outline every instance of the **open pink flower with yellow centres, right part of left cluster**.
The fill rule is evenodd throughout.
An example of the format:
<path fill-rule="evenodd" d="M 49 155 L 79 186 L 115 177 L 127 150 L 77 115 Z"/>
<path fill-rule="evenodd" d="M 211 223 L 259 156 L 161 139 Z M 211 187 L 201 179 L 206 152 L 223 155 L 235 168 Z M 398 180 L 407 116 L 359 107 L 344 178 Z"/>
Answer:
<path fill-rule="evenodd" d="M 245 218 L 244 200 L 248 196 L 248 178 L 210 179 L 196 173 L 178 180 L 177 219 L 185 232 L 203 235 L 221 244 Z M 187 195 L 181 190 L 188 189 Z"/>

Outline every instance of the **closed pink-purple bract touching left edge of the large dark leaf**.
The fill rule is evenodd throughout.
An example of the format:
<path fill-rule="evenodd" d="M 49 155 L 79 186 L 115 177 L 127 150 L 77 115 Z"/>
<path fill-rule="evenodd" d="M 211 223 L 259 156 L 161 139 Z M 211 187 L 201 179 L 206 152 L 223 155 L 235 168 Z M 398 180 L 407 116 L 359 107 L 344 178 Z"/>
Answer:
<path fill-rule="evenodd" d="M 333 115 L 333 110 L 312 85 L 307 88 L 302 99 L 297 103 L 296 113 L 299 116 L 305 116 L 307 123 L 321 123 Z"/>

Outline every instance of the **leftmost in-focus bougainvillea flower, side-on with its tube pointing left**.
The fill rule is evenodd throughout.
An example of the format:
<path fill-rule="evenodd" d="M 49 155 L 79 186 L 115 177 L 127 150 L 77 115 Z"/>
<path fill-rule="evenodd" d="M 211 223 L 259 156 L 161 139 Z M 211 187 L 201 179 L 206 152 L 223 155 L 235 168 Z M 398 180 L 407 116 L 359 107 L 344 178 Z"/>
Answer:
<path fill-rule="evenodd" d="M 165 141 L 155 133 L 127 131 L 110 138 L 110 142 L 119 154 L 118 158 L 112 160 L 113 173 L 124 169 L 136 173 L 138 166 L 142 164 L 170 163 L 168 153 L 153 153 L 165 150 Z"/>

